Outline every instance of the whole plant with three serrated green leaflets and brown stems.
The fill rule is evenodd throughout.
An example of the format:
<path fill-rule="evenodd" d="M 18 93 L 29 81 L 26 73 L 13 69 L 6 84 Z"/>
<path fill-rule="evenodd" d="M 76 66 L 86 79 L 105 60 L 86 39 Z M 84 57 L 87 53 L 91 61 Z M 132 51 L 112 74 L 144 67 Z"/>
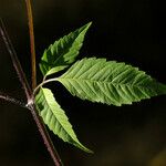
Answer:
<path fill-rule="evenodd" d="M 40 62 L 43 81 L 37 85 L 33 19 L 30 0 L 25 0 L 25 2 L 30 28 L 32 87 L 27 82 L 15 51 L 1 21 L 0 32 L 27 94 L 28 102 L 23 104 L 4 94 L 1 94 L 0 98 L 19 104 L 31 111 L 56 166 L 62 165 L 62 162 L 44 124 L 64 142 L 87 153 L 92 153 L 92 151 L 79 142 L 64 111 L 55 101 L 51 90 L 43 87 L 46 83 L 60 82 L 72 95 L 82 100 L 116 106 L 166 94 L 166 85 L 158 83 L 137 68 L 126 65 L 125 63 L 95 58 L 84 58 L 75 62 L 91 22 L 55 41 L 44 51 Z M 66 71 L 61 76 L 48 79 L 52 74 L 64 70 Z"/>

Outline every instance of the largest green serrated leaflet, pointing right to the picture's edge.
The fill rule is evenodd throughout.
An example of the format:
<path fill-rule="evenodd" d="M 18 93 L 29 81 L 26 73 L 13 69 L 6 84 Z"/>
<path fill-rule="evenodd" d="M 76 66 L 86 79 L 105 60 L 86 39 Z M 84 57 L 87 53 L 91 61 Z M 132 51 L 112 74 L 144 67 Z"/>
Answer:
<path fill-rule="evenodd" d="M 77 61 L 56 80 L 82 100 L 117 106 L 166 94 L 166 85 L 157 83 L 145 72 L 105 59 Z"/>

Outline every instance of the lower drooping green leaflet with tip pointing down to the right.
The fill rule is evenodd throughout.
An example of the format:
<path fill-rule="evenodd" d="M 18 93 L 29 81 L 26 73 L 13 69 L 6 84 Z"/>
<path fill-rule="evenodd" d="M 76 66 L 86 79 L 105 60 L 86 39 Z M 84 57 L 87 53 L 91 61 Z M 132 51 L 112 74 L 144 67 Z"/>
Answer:
<path fill-rule="evenodd" d="M 40 92 L 35 96 L 35 105 L 44 123 L 55 135 L 64 142 L 68 142 L 87 153 L 92 153 L 79 142 L 68 116 L 56 103 L 52 92 L 49 89 L 40 89 Z"/>

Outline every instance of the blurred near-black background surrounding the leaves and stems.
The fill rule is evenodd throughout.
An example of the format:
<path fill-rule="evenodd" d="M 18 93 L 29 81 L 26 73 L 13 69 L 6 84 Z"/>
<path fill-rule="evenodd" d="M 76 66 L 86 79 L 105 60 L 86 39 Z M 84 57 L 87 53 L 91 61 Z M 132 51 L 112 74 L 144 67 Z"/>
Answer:
<path fill-rule="evenodd" d="M 38 61 L 54 40 L 93 21 L 79 59 L 124 61 L 166 83 L 166 13 L 162 0 L 35 0 Z M 23 0 L 0 0 L 10 38 L 30 80 L 29 33 Z M 39 72 L 39 80 L 41 74 Z M 72 97 L 49 84 L 65 110 L 85 154 L 51 136 L 65 166 L 165 166 L 166 97 L 122 107 Z M 9 53 L 0 39 L 0 91 L 24 100 Z M 0 101 L 0 166 L 53 166 L 29 111 Z"/>

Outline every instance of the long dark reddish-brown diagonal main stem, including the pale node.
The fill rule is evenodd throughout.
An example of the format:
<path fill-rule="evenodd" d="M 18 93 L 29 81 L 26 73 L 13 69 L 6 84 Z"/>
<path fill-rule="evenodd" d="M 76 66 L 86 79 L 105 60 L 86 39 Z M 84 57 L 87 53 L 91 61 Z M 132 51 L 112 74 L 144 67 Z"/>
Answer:
<path fill-rule="evenodd" d="M 1 22 L 0 33 L 2 35 L 2 39 L 3 39 L 4 43 L 6 43 L 6 46 L 7 46 L 8 51 L 9 51 L 9 53 L 10 53 L 13 66 L 14 66 L 14 69 L 17 71 L 19 80 L 20 80 L 20 82 L 21 82 L 21 84 L 23 86 L 23 90 L 25 92 L 25 95 L 27 95 L 28 104 L 25 105 L 25 107 L 28 107 L 31 111 L 31 113 L 33 115 L 33 118 L 34 118 L 34 121 L 35 121 L 35 123 L 38 125 L 39 132 L 40 132 L 40 134 L 41 134 L 41 136 L 42 136 L 42 138 L 44 141 L 44 144 L 45 144 L 45 146 L 46 146 L 46 148 L 48 148 L 48 151 L 49 151 L 49 153 L 50 153 L 50 155 L 51 155 L 51 157 L 52 157 L 52 159 L 54 162 L 54 165 L 55 166 L 62 166 L 63 164 L 62 164 L 62 162 L 61 162 L 61 159 L 60 159 L 60 157 L 59 157 L 59 155 L 58 155 L 58 153 L 56 153 L 56 151 L 55 151 L 55 148 L 53 146 L 53 143 L 52 143 L 50 136 L 49 136 L 49 133 L 48 133 L 48 131 L 46 131 L 46 128 L 44 126 L 44 123 L 41 120 L 41 117 L 39 116 L 38 111 L 35 110 L 34 96 L 33 96 L 32 90 L 30 89 L 30 85 L 29 85 L 29 83 L 27 81 L 27 77 L 25 77 L 24 72 L 22 70 L 22 66 L 21 66 L 20 61 L 18 59 L 18 55 L 15 53 L 15 50 L 14 50 L 14 48 L 13 48 L 13 45 L 12 45 L 10 39 L 9 39 L 9 35 L 8 35 L 7 31 L 6 31 L 4 24 L 3 24 L 1 19 L 0 19 L 0 22 Z M 2 95 L 1 98 L 4 100 L 6 96 Z M 10 101 L 12 102 L 11 98 L 10 98 Z"/>

